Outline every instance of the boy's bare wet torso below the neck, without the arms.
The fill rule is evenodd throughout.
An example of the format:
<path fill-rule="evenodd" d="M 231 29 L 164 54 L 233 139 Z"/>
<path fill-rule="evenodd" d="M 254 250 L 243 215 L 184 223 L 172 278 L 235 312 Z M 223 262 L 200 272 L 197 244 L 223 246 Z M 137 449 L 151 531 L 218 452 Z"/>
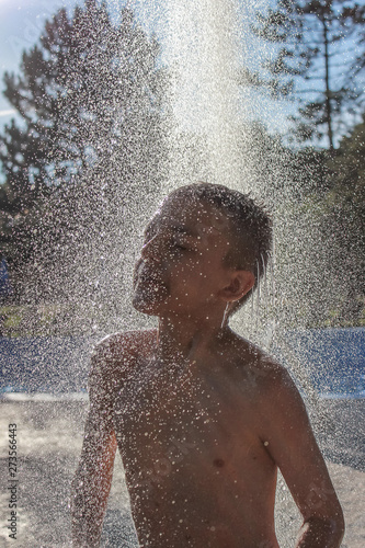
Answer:
<path fill-rule="evenodd" d="M 260 413 L 270 363 L 236 338 L 209 363 L 179 368 L 153 358 L 151 336 L 138 334 L 114 401 L 141 545 L 277 547 L 276 466 Z"/>

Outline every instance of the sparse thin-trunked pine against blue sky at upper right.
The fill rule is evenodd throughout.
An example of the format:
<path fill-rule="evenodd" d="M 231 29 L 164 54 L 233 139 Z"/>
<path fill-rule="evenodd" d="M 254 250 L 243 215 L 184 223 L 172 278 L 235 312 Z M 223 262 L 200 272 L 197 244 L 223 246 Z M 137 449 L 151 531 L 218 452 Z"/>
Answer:
<path fill-rule="evenodd" d="M 277 52 L 264 64 L 270 76 L 251 75 L 251 81 L 298 103 L 290 118 L 299 142 L 321 144 L 333 152 L 358 122 L 358 102 L 364 100 L 364 7 L 352 0 L 277 0 L 276 9 L 256 18 L 254 33 Z M 350 61 L 345 52 L 353 53 Z"/>

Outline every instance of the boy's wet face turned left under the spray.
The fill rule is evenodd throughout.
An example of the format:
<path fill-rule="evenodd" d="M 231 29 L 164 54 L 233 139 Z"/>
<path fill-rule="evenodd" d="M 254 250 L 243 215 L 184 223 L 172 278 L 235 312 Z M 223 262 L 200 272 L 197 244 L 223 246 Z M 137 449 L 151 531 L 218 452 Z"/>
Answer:
<path fill-rule="evenodd" d="M 229 284 L 225 265 L 229 220 L 191 195 L 164 202 L 145 231 L 135 267 L 134 307 L 145 313 L 185 316 L 205 321 Z"/>

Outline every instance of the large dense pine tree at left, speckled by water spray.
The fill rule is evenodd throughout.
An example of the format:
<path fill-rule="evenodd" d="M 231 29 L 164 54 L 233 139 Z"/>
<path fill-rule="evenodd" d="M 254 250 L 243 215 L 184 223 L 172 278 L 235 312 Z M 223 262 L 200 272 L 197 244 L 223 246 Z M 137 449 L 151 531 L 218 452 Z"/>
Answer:
<path fill-rule="evenodd" d="M 114 25 L 105 2 L 87 0 L 72 15 L 59 10 L 24 52 L 20 75 L 4 75 L 4 94 L 23 118 L 0 135 L 1 240 L 19 278 L 33 263 L 36 277 L 41 261 L 38 278 L 49 288 L 45 265 L 66 255 L 76 262 L 78 248 L 102 255 L 113 231 L 128 232 L 138 201 L 158 190 L 158 54 L 130 10 Z"/>

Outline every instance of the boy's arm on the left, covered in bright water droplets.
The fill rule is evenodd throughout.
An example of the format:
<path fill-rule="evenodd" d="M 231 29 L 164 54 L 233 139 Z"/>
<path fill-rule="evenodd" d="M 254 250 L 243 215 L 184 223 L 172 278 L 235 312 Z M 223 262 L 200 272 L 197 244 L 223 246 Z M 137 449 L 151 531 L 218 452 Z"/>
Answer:
<path fill-rule="evenodd" d="M 72 546 L 98 547 L 112 483 L 116 438 L 113 426 L 113 365 L 105 343 L 91 358 L 90 410 L 81 457 L 71 484 Z"/>

